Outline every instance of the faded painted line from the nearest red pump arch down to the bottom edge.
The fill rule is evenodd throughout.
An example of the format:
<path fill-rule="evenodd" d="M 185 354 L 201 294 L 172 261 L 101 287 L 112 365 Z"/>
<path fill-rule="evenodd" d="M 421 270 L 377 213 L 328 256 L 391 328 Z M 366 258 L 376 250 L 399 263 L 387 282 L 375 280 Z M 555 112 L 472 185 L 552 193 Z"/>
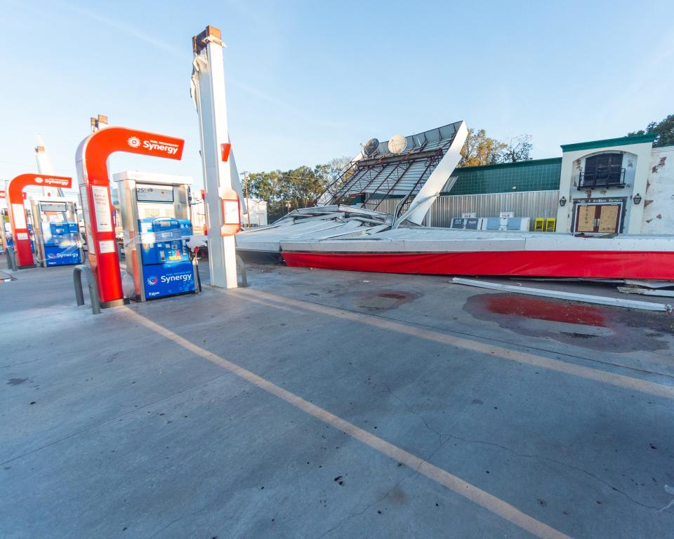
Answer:
<path fill-rule="evenodd" d="M 227 371 L 230 371 L 232 374 L 239 376 L 239 378 L 243 378 L 247 382 L 250 382 L 256 387 L 259 387 L 261 390 L 265 390 L 275 397 L 278 397 L 292 406 L 299 408 L 301 411 L 312 415 L 318 420 L 321 420 L 322 422 L 325 422 L 328 425 L 345 432 L 350 437 L 362 441 L 362 443 L 366 446 L 373 448 L 379 453 L 387 455 L 399 463 L 403 463 L 412 470 L 416 470 L 416 472 L 425 475 L 425 477 L 428 477 L 442 486 L 449 488 L 449 490 L 463 496 L 463 498 L 467 498 L 477 505 L 484 507 L 484 509 L 497 514 L 499 517 L 502 517 L 512 524 L 515 524 L 515 526 L 519 526 L 523 530 L 533 533 L 536 535 L 536 537 L 541 539 L 571 539 L 569 535 L 566 535 L 561 531 L 557 531 L 555 528 L 551 528 L 547 524 L 543 524 L 543 522 L 536 520 L 533 517 L 529 517 L 528 514 L 523 513 L 513 505 L 504 502 L 500 498 L 496 498 L 496 496 L 483 491 L 481 488 L 477 488 L 477 486 L 463 481 L 463 479 L 456 477 L 456 475 L 452 475 L 445 470 L 442 470 L 442 468 L 432 465 L 426 460 L 423 460 L 423 458 L 419 458 L 408 451 L 404 451 L 404 449 L 390 444 L 388 441 L 385 441 L 379 437 L 374 436 L 374 434 L 370 434 L 369 432 L 356 427 L 356 425 L 339 418 L 337 415 L 334 415 L 333 413 L 330 413 L 329 411 L 326 411 L 315 404 L 311 404 L 309 401 L 305 401 L 305 399 L 302 397 L 298 397 L 298 395 L 284 390 L 282 387 L 265 380 L 265 378 L 262 378 L 255 373 L 246 370 L 242 366 L 234 364 L 231 361 L 227 361 L 227 359 L 218 356 L 218 354 L 214 354 L 213 352 L 209 352 L 209 350 L 195 345 L 189 340 L 180 337 L 180 335 L 173 333 L 173 331 L 164 328 L 163 326 L 159 326 L 159 324 L 155 324 L 153 321 L 148 320 L 136 312 L 133 312 L 128 307 L 126 307 L 126 313 L 138 324 L 141 324 L 155 333 L 158 333 L 162 337 L 175 342 L 176 345 L 185 348 L 185 350 L 192 352 L 192 354 L 207 359 L 208 361 L 211 361 L 211 363 L 227 369 Z"/>

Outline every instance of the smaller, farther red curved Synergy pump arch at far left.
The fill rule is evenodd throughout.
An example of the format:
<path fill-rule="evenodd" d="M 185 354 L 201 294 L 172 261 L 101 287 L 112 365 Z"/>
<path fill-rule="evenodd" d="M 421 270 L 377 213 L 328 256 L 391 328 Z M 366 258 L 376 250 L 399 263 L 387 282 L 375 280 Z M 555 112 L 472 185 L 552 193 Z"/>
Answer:
<path fill-rule="evenodd" d="M 12 227 L 12 236 L 14 238 L 16 265 L 19 268 L 35 267 L 33 253 L 30 250 L 30 234 L 26 220 L 26 209 L 23 206 L 23 199 L 25 199 L 23 189 L 28 185 L 69 188 L 72 185 L 72 178 L 42 174 L 21 174 L 9 182 L 7 186 L 7 208 L 9 222 Z M 4 234 L 4 230 L 2 233 Z"/>

